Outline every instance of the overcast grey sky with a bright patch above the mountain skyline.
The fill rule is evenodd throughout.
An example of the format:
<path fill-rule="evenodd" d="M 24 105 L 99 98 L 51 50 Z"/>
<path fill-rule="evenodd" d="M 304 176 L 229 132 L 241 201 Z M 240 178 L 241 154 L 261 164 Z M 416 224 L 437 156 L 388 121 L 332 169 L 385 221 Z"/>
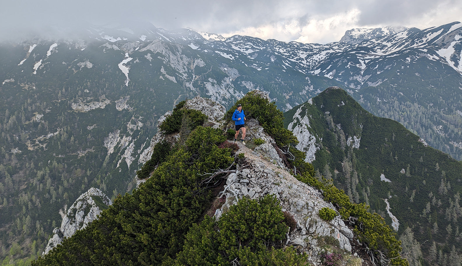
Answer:
<path fill-rule="evenodd" d="M 290 42 L 339 41 L 346 30 L 386 25 L 426 29 L 462 21 L 461 0 L 2 0 L 0 37 L 47 25 L 138 20 Z"/>

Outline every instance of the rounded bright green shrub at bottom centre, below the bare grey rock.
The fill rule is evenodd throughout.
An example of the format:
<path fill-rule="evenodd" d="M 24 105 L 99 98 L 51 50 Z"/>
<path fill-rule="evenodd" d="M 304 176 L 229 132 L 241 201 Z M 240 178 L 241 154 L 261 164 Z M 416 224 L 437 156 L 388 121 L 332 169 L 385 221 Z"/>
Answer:
<path fill-rule="evenodd" d="M 287 232 L 283 219 L 274 196 L 243 198 L 218 222 L 205 217 L 194 224 L 174 265 L 308 265 L 306 255 L 282 248 Z"/>

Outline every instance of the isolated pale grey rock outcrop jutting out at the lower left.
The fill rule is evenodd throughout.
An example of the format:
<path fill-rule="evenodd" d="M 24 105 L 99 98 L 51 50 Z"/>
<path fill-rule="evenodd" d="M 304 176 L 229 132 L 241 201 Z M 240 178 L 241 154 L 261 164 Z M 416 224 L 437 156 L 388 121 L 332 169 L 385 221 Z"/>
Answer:
<path fill-rule="evenodd" d="M 62 219 L 61 227 L 56 227 L 53 230 L 53 236 L 49 239 L 43 254 L 48 254 L 52 248 L 61 243 L 64 237 L 72 236 L 77 230 L 84 229 L 95 220 L 97 215 L 102 212 L 101 204 L 109 206 L 112 205 L 112 201 L 97 188 L 91 187 L 80 195 L 67 210 L 67 214 Z"/>

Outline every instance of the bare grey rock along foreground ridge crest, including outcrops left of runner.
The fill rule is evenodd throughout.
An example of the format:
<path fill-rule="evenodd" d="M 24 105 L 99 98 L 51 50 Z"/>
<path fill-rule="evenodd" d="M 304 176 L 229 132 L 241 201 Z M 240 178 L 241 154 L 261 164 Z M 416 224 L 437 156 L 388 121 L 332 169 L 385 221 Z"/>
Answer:
<path fill-rule="evenodd" d="M 266 96 L 264 92 L 255 92 L 262 97 Z M 184 106 L 201 110 L 208 116 L 208 122 L 213 127 L 227 130 L 234 126 L 232 123 L 225 124 L 225 108 L 213 100 L 195 97 L 187 100 Z M 169 115 L 171 112 L 162 116 L 159 124 Z M 276 151 L 274 139 L 263 130 L 258 121 L 248 119 L 246 127 L 245 141 L 250 148 L 239 142 L 237 151 L 244 154 L 246 163 L 238 165 L 236 173 L 228 175 L 224 190 L 218 196 L 225 196 L 225 203 L 215 211 L 214 217 L 219 219 L 230 206 L 237 204 L 243 197 L 258 199 L 273 194 L 280 200 L 282 210 L 289 212 L 297 223 L 297 228 L 291 228 L 287 233 L 286 245 L 295 246 L 300 252 L 309 254 L 313 265 L 320 265 L 322 254 L 329 252 L 320 241 L 326 237 L 338 241 L 337 248 L 345 253 L 354 253 L 353 245 L 357 245 L 358 241 L 338 212 L 331 221 L 319 217 L 319 210 L 331 208 L 335 211 L 334 206 L 323 200 L 322 193 L 298 181 L 289 172 Z M 152 138 L 152 146 L 166 138 L 176 139 L 177 136 L 168 136 L 159 130 Z M 255 146 L 252 139 L 263 139 L 265 142 Z M 138 183 L 140 182 L 143 180 L 139 180 Z M 352 255 L 352 259 L 361 260 L 356 253 Z"/>

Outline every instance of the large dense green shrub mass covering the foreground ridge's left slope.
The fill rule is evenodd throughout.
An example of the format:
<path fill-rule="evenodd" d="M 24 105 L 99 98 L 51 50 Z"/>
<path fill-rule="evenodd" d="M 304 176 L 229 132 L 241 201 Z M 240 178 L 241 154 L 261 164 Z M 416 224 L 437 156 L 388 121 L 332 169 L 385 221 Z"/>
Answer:
<path fill-rule="evenodd" d="M 225 139 L 219 129 L 196 127 L 132 194 L 118 196 L 97 220 L 32 265 L 171 265 L 213 200 L 204 182 L 211 175 L 204 173 L 234 161 L 231 149 L 219 148 Z"/>

